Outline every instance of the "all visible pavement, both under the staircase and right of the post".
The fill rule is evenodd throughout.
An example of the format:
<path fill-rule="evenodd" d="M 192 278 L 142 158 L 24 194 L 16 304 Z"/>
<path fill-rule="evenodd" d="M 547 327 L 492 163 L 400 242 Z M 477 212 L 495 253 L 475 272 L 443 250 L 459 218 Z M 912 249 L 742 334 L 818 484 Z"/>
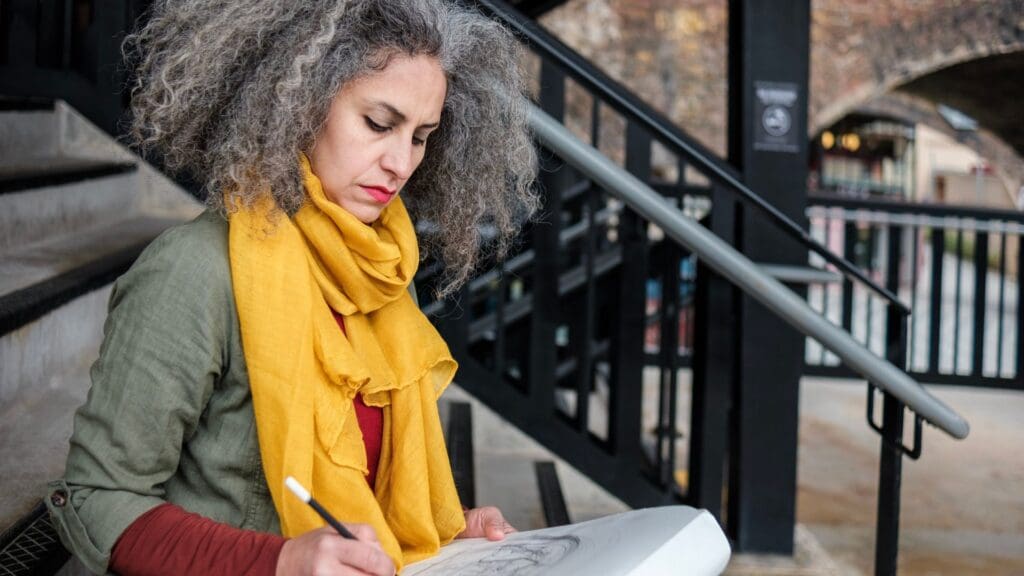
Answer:
<path fill-rule="evenodd" d="M 689 374 L 680 378 L 687 428 Z M 655 409 L 656 374 L 645 380 Z M 926 426 L 920 460 L 904 459 L 901 576 L 1024 575 L 1024 393 L 934 386 L 971 423 L 956 441 Z M 880 439 L 865 422 L 863 382 L 804 378 L 793 557 L 733 553 L 729 576 L 873 574 Z M 454 386 L 445 398 L 467 399 Z M 556 462 L 573 522 L 628 509 L 571 466 L 473 401 L 478 505 L 520 529 L 544 527 L 531 462 Z M 685 443 L 677 461 L 685 462 Z M 685 476 L 685 475 L 682 475 Z"/>

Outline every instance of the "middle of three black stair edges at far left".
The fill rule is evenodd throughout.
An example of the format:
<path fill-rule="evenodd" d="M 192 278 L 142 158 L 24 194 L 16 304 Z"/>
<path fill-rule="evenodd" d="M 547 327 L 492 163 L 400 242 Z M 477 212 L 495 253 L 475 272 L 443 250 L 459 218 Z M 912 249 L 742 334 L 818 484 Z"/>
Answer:
<path fill-rule="evenodd" d="M 0 194 L 101 178 L 132 172 L 133 162 L 89 158 L 47 157 L 0 164 Z"/>

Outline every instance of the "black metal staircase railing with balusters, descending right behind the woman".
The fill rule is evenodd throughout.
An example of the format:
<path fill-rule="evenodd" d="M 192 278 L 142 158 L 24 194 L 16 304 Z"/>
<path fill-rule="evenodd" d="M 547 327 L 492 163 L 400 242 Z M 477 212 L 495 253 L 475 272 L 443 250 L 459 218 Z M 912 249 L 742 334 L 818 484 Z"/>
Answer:
<path fill-rule="evenodd" d="M 725 193 L 761 210 L 783 234 L 841 272 L 848 285 L 885 302 L 890 329 L 884 356 L 905 367 L 906 331 L 901 327 L 907 325 L 910 308 L 896 296 L 898 287 L 883 286 L 829 251 L 744 187 L 728 165 L 507 4 L 501 0 L 477 4 L 513 28 L 540 57 L 537 98 L 546 113 L 565 121 L 566 111 L 573 109 L 578 134 L 599 150 L 607 148 L 602 124 L 609 118 L 617 122 L 621 163 L 643 181 L 651 180 L 651 148 L 656 142 L 674 158 L 676 167 L 674 177 L 658 188 L 677 206 Z M 590 118 L 583 129 L 581 106 L 589 109 L 585 116 Z M 679 410 L 679 396 L 686 386 L 679 382 L 678 340 L 679 311 L 688 302 L 682 296 L 686 290 L 680 289 L 679 271 L 691 255 L 663 241 L 650 222 L 623 209 L 607 191 L 587 188 L 582 183 L 585 178 L 560 164 L 550 151 L 544 154 L 546 219 L 525 237 L 528 244 L 522 253 L 531 253 L 526 259 L 532 265 L 513 273 L 497 264 L 489 272 L 495 280 L 487 289 L 464 291 L 461 303 L 446 308 L 438 325 L 457 351 L 465 346 L 457 354 L 470 392 L 599 484 L 632 505 L 685 499 L 685 478 L 677 476 L 685 471 L 678 463 L 686 461 L 689 451 L 679 441 L 680 429 L 688 423 Z M 697 176 L 687 177 L 688 172 Z M 567 195 L 573 188 L 585 192 Z M 595 215 L 606 209 L 613 209 L 615 217 L 598 221 Z M 582 238 L 563 237 L 563 231 L 580 228 L 586 231 Z M 658 265 L 651 265 L 652 258 Z M 519 288 L 513 293 L 510 286 Z M 646 297 L 651 292 L 663 295 L 654 306 Z M 471 331 L 484 322 L 480 314 L 486 328 Z M 657 320 L 652 323 L 651 317 Z M 656 333 L 659 344 L 650 356 L 644 349 L 645 340 L 652 339 L 645 338 L 648 333 Z M 868 390 L 873 408 L 874 387 L 869 385 Z M 912 450 L 900 444 L 906 409 L 892 395 L 884 397 L 883 423 L 874 425 L 873 419 L 870 423 L 883 436 L 877 571 L 890 574 L 895 572 L 902 455 L 920 454 L 921 438 Z M 645 414 L 644 406 L 656 409 Z M 690 414 L 691 421 L 698 417 L 708 415 Z M 699 474 L 695 466 L 721 464 L 690 459 L 689 471 Z"/>

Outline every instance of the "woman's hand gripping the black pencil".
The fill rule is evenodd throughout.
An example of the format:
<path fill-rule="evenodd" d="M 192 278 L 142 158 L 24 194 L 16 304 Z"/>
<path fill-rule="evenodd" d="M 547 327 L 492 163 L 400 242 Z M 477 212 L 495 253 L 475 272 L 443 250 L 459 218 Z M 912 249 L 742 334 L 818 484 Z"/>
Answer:
<path fill-rule="evenodd" d="M 384 553 L 377 533 L 366 524 L 346 524 L 356 540 L 342 538 L 330 526 L 285 542 L 278 557 L 278 576 L 394 576 L 394 563 Z"/>

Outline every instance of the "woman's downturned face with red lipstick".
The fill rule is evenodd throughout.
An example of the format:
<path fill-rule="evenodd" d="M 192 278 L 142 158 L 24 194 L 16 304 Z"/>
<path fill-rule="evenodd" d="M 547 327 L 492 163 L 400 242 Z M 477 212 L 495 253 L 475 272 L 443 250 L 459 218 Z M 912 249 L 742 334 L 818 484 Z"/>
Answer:
<path fill-rule="evenodd" d="M 447 80 L 431 56 L 395 55 L 338 92 L 309 154 L 324 193 L 371 223 L 423 161 Z"/>

